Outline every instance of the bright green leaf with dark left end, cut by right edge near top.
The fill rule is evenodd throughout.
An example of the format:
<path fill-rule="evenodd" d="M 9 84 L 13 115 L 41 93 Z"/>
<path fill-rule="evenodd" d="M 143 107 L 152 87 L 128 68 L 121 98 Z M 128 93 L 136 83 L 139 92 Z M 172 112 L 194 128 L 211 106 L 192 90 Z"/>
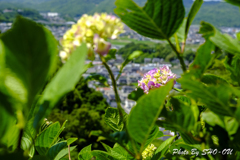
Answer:
<path fill-rule="evenodd" d="M 237 39 L 233 39 L 231 36 L 227 34 L 221 34 L 221 32 L 211 24 L 202 22 L 199 32 L 203 34 L 203 37 L 205 37 L 206 39 L 209 39 L 219 48 L 231 54 L 235 54 L 235 55 L 240 54 L 239 41 Z"/>

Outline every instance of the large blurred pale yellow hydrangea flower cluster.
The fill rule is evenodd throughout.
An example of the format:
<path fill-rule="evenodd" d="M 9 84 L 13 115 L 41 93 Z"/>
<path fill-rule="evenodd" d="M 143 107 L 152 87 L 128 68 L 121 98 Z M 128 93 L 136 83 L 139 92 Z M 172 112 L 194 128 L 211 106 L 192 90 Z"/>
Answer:
<path fill-rule="evenodd" d="M 66 60 L 71 52 L 81 43 L 86 43 L 88 47 L 88 56 L 92 57 L 94 51 L 98 54 L 105 55 L 111 48 L 107 39 L 115 39 L 123 33 L 123 23 L 117 17 L 106 13 L 93 16 L 83 15 L 77 22 L 72 25 L 61 41 L 63 50 L 60 52 L 62 60 Z"/>

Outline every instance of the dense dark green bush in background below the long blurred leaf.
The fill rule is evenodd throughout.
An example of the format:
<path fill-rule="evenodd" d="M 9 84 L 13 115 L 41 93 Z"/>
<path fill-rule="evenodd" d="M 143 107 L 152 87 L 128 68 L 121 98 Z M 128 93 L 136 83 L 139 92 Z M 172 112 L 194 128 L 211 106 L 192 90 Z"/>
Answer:
<path fill-rule="evenodd" d="M 87 83 L 80 81 L 74 91 L 67 94 L 52 113 L 48 116 L 48 121 L 64 123 L 65 130 L 61 133 L 64 139 L 77 137 L 73 144 L 77 145 L 71 155 L 72 159 L 77 159 L 78 152 L 85 146 L 92 144 L 94 149 L 103 150 L 97 137 L 89 136 L 92 130 L 102 130 L 105 133 L 112 133 L 104 120 L 105 110 L 110 107 L 103 98 L 101 92 L 88 88 Z M 113 143 L 104 141 L 104 143 L 113 146 Z"/>

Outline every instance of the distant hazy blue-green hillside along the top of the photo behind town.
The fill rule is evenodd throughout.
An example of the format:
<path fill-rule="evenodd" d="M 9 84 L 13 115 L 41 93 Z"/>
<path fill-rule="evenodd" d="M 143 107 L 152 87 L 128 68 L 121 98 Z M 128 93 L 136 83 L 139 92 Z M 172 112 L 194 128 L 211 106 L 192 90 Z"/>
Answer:
<path fill-rule="evenodd" d="M 143 6 L 146 0 L 134 0 Z M 6 3 L 8 2 L 8 3 Z M 95 12 L 114 13 L 115 0 L 0 0 L 0 9 L 9 6 L 37 9 L 38 11 L 60 12 L 62 16 L 80 17 L 84 13 Z M 193 3 L 192 0 L 183 0 L 186 14 Z M 225 2 L 205 2 L 196 16 L 193 24 L 207 21 L 215 26 L 240 27 L 239 8 Z"/>

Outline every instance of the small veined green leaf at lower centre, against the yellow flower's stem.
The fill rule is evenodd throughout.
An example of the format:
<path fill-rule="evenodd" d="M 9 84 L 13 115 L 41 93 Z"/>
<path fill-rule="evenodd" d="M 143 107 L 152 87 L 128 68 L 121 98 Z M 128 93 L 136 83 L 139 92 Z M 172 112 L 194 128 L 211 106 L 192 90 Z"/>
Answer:
<path fill-rule="evenodd" d="M 104 120 L 107 125 L 115 132 L 122 131 L 124 124 L 118 109 L 109 107 L 106 109 Z"/>

